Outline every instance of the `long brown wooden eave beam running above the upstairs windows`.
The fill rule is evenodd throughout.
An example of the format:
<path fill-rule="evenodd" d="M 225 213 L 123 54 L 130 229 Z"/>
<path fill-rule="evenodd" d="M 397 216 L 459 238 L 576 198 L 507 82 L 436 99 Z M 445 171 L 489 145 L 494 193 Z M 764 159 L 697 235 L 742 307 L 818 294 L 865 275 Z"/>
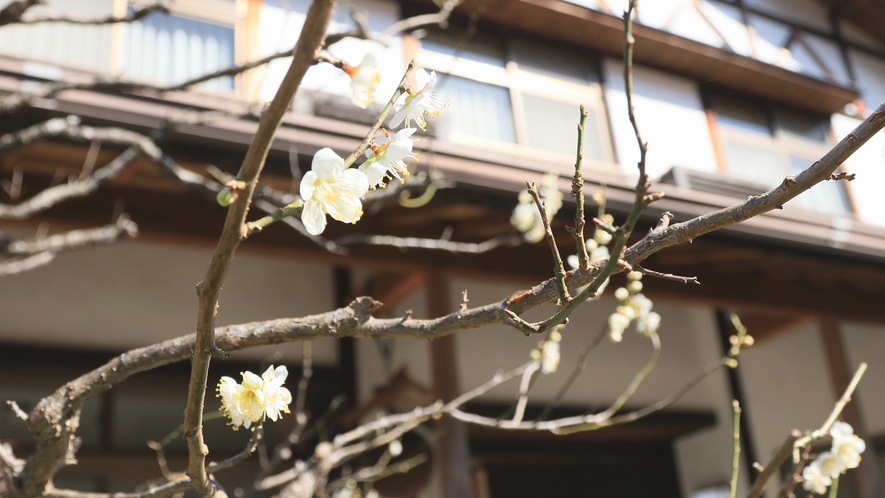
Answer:
<path fill-rule="evenodd" d="M 466 0 L 458 10 L 481 12 L 484 21 L 605 55 L 620 57 L 623 52 L 620 18 L 560 0 Z M 836 84 L 641 24 L 634 25 L 633 35 L 633 59 L 639 64 L 700 81 L 716 80 L 765 99 L 833 113 L 859 96 Z"/>

